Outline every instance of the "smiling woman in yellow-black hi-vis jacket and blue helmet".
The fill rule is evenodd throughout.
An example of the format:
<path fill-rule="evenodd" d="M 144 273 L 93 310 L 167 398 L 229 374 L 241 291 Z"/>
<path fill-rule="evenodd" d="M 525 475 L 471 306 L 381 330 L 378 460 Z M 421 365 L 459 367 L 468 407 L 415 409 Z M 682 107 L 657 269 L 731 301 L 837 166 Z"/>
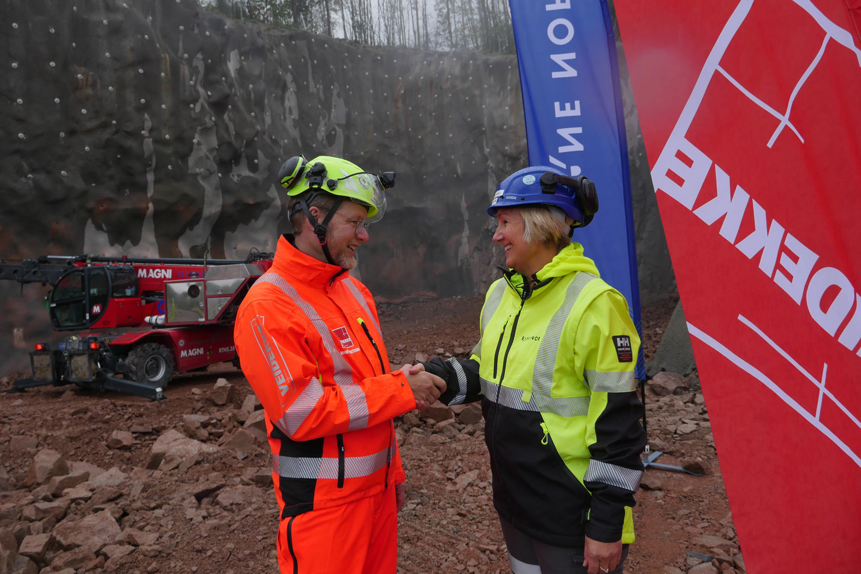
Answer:
<path fill-rule="evenodd" d="M 481 399 L 493 505 L 515 574 L 622 572 L 646 434 L 640 338 L 621 293 L 572 243 L 598 210 L 592 182 L 546 166 L 499 185 L 488 213 L 509 271 L 487 291 L 468 361 L 413 367 Z"/>

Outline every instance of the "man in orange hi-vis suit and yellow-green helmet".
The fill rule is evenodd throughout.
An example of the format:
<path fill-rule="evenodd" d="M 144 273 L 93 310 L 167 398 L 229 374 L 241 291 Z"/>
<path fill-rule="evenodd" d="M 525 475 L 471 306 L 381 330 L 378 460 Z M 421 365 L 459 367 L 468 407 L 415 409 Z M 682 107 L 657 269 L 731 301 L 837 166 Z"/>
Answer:
<path fill-rule="evenodd" d="M 279 239 L 234 333 L 266 412 L 278 564 L 282 574 L 394 574 L 406 477 L 392 419 L 445 391 L 431 373 L 389 373 L 374 300 L 347 273 L 394 173 L 299 156 L 279 176 L 294 235 Z"/>

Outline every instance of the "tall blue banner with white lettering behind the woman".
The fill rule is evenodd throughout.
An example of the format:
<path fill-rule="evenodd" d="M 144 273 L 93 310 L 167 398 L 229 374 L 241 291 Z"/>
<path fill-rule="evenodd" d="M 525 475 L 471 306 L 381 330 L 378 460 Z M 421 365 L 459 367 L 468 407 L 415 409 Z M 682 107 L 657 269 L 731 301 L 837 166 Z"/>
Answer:
<path fill-rule="evenodd" d="M 574 231 L 601 277 L 628 299 L 642 335 L 634 213 L 616 39 L 606 0 L 509 0 L 530 165 L 586 176 L 592 224 Z M 636 377 L 646 378 L 642 349 Z"/>

